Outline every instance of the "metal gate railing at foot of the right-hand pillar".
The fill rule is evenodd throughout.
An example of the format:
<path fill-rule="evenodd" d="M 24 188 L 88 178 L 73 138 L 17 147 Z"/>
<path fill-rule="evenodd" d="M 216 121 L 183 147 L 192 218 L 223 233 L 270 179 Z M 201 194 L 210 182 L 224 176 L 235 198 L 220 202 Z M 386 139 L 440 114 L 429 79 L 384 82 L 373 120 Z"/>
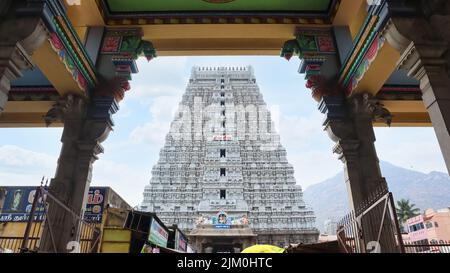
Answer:
<path fill-rule="evenodd" d="M 346 253 L 404 252 L 394 199 L 381 187 L 338 223 L 337 239 Z"/>

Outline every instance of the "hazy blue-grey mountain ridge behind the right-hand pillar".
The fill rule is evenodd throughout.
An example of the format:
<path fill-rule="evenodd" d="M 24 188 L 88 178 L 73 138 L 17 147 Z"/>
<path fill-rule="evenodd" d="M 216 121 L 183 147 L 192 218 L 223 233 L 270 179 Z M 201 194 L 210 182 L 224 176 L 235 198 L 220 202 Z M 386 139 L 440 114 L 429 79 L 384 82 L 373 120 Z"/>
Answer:
<path fill-rule="evenodd" d="M 383 176 L 395 201 L 410 199 L 422 211 L 427 208 L 440 209 L 450 207 L 450 177 L 446 173 L 428 174 L 408 170 L 388 162 L 380 162 Z M 327 219 L 340 220 L 349 212 L 344 173 L 304 191 L 304 199 L 314 209 L 316 226 L 323 230 Z"/>

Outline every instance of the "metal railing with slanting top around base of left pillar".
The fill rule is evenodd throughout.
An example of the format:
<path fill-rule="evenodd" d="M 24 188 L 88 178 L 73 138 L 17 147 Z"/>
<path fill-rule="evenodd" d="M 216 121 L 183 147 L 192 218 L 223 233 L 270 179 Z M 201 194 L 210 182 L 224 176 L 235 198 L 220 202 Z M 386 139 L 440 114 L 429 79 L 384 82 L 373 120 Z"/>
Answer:
<path fill-rule="evenodd" d="M 52 206 L 58 206 L 59 209 L 69 212 L 75 219 L 73 229 L 76 230 L 77 234 L 73 237 L 76 239 L 70 246 L 68 245 L 67 252 L 97 252 L 100 240 L 100 229 L 95 225 L 84 221 L 82 217 L 58 200 L 44 186 L 37 187 L 36 189 L 24 236 L 0 237 L 0 252 L 40 252 L 43 240 L 50 240 L 53 245 L 53 251 L 51 252 L 58 252 L 55 247 L 55 238 L 52 229 L 49 228 L 49 232 L 43 234 L 46 225 L 51 227 L 52 223 L 52 217 L 48 214 L 49 203 Z"/>

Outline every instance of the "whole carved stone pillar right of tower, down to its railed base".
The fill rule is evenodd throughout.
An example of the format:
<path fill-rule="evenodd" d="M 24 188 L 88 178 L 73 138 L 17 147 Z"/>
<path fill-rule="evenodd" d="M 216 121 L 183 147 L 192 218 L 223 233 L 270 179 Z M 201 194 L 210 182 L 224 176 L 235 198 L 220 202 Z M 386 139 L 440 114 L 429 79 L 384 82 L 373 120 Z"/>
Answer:
<path fill-rule="evenodd" d="M 390 122 L 389 112 L 382 108 L 371 95 L 355 94 L 348 99 L 342 96 L 323 96 L 319 109 L 326 115 L 325 130 L 336 142 L 333 152 L 344 163 L 344 176 L 350 208 L 360 215 L 367 204 L 388 192 L 387 183 L 381 175 L 375 149 L 374 119 Z M 398 252 L 392 220 L 383 221 L 383 205 L 377 206 L 358 223 L 365 244 L 378 241 L 382 252 Z M 380 235 L 380 227 L 383 232 Z M 378 240 L 379 238 L 379 240 Z M 360 251 L 366 250 L 365 245 Z"/>

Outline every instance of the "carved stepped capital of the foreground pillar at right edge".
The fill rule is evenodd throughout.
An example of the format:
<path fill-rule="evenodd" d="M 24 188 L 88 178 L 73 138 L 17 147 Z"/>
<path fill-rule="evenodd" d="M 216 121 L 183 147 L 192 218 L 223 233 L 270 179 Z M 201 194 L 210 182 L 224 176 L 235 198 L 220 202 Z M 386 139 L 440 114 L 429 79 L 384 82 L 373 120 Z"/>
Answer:
<path fill-rule="evenodd" d="M 445 1 L 439 10 L 433 4 L 443 2 L 422 3 L 424 11 L 432 12 L 392 17 L 384 31 L 387 41 L 401 53 L 397 67 L 420 82 L 424 105 L 433 124 L 437 124 L 442 122 L 440 111 L 430 107 L 448 98 L 450 85 L 450 31 L 443 27 L 450 23 L 450 2 Z"/>

